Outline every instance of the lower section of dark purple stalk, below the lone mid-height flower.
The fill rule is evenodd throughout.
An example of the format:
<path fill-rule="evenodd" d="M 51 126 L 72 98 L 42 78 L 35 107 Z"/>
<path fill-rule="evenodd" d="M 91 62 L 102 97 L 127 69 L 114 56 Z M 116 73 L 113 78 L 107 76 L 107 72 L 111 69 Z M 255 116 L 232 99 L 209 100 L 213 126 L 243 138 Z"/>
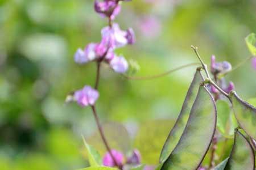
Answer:
<path fill-rule="evenodd" d="M 109 152 L 111 158 L 113 159 L 114 164 L 117 165 L 117 167 L 118 167 L 119 169 L 122 169 L 122 165 L 119 165 L 119 164 L 117 163 L 117 160 L 115 160 L 114 155 L 113 155 L 112 152 L 111 152 L 111 148 L 109 147 L 109 144 L 108 144 L 108 142 L 106 141 L 106 137 L 105 137 L 105 135 L 104 135 L 104 131 L 103 131 L 102 128 L 101 128 L 100 120 L 99 120 L 99 118 L 98 118 L 98 114 L 97 114 L 97 112 L 96 112 L 96 108 L 95 108 L 94 105 L 92 105 L 92 111 L 93 111 L 93 116 L 94 116 L 94 118 L 95 118 L 95 121 L 96 121 L 96 124 L 97 124 L 97 127 L 98 127 L 98 131 L 100 132 L 101 139 L 102 139 L 102 141 L 104 142 L 104 145 L 105 145 L 105 147 L 106 147 L 106 150 L 108 150 L 108 152 Z"/>

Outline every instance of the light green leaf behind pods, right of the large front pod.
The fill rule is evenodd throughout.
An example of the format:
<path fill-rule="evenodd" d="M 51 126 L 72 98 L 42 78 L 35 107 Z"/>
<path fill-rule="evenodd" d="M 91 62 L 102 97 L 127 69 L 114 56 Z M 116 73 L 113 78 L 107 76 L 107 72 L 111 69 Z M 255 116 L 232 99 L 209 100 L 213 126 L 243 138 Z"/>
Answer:
<path fill-rule="evenodd" d="M 226 138 L 233 138 L 234 129 L 237 127 L 236 118 L 230 114 L 229 104 L 224 100 L 217 100 L 217 128 Z"/>

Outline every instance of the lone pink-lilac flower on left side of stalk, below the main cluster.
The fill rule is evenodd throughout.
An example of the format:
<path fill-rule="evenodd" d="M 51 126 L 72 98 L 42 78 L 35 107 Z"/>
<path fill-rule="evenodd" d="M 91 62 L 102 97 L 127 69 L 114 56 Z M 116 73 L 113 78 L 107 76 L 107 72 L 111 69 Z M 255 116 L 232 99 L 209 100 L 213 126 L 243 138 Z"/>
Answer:
<path fill-rule="evenodd" d="M 90 86 L 85 86 L 81 90 L 75 92 L 74 99 L 79 105 L 86 107 L 88 105 L 94 105 L 98 96 L 99 94 L 97 90 L 94 90 Z"/>

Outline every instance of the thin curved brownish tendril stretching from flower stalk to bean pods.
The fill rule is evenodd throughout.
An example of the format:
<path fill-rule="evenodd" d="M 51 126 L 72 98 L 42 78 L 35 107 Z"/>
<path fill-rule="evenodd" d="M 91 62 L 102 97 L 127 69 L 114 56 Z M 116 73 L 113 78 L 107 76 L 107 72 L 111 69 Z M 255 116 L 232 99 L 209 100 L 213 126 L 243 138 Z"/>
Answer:
<path fill-rule="evenodd" d="M 195 66 L 195 65 L 199 65 L 200 63 L 189 63 L 187 65 L 183 65 L 183 66 L 179 66 L 179 67 L 176 67 L 175 69 L 172 69 L 172 70 L 168 70 L 164 73 L 161 73 L 161 74 L 156 74 L 156 75 L 150 75 L 150 76 L 128 76 L 128 75 L 125 75 L 123 74 L 123 76 L 127 79 L 130 79 L 130 80 L 148 80 L 148 79 L 155 79 L 155 78 L 160 78 L 162 76 L 165 76 L 165 75 L 168 75 L 170 73 L 173 73 L 177 70 L 181 70 L 181 69 L 184 69 L 186 67 L 191 67 L 191 66 Z"/>

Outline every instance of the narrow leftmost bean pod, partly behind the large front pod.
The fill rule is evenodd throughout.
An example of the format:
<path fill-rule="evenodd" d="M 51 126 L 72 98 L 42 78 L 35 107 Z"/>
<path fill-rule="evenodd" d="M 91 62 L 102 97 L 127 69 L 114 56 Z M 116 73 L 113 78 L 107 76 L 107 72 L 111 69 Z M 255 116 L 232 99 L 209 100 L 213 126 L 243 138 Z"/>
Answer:
<path fill-rule="evenodd" d="M 183 106 L 181 108 L 179 117 L 177 118 L 174 128 L 170 131 L 166 142 L 162 148 L 162 152 L 160 154 L 159 162 L 164 162 L 168 156 L 171 154 L 172 150 L 174 150 L 175 146 L 179 142 L 181 134 L 185 129 L 185 125 L 187 124 L 189 112 L 192 108 L 193 101 L 196 99 L 196 93 L 198 91 L 198 87 L 200 83 L 203 81 L 200 71 L 196 71 L 195 76 L 192 80 L 192 83 L 188 89 L 187 95 L 185 97 Z"/>

